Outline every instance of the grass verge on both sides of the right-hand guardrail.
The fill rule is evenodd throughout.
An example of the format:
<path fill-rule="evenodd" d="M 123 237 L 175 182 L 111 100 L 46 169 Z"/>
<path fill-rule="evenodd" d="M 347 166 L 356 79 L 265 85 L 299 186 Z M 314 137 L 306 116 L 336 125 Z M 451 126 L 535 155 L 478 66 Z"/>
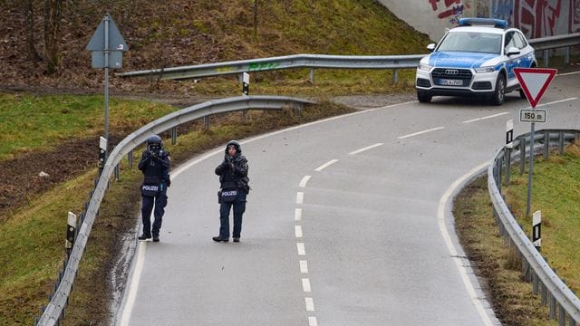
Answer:
<path fill-rule="evenodd" d="M 527 218 L 527 174 L 512 168 L 510 185 L 504 186 L 507 203 L 527 235 L 531 218 Z M 580 250 L 580 150 L 569 146 L 564 155 L 534 162 L 532 209 L 542 211 L 542 254 L 560 278 L 578 291 Z M 521 259 L 498 234 L 491 214 L 487 177 L 480 177 L 455 198 L 453 214 L 461 245 L 471 264 L 484 276 L 484 288 L 491 293 L 492 305 L 500 321 L 508 325 L 556 325 L 548 321 L 546 306 L 532 293 L 530 283 L 523 281 Z"/>

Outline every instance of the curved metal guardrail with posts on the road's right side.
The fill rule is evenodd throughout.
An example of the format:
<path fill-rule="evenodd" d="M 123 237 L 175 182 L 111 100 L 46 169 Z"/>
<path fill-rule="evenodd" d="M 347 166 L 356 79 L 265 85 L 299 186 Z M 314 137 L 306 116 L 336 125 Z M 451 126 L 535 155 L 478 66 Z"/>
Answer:
<path fill-rule="evenodd" d="M 530 134 L 524 134 L 514 140 L 514 149 L 519 149 L 519 153 L 511 152 L 511 149 L 503 147 L 493 158 L 492 164 L 488 168 L 488 190 L 489 197 L 493 204 L 494 216 L 497 218 L 500 233 L 506 236 L 511 244 L 517 246 L 517 250 L 522 256 L 523 269 L 527 281 L 534 284 L 534 293 L 540 292 L 542 303 L 550 303 L 550 318 L 556 318 L 558 311 L 559 325 L 565 325 L 566 315 L 569 325 L 580 323 L 580 300 L 565 283 L 560 280 L 554 270 L 547 264 L 546 259 L 536 250 L 536 247 L 527 238 L 516 218 L 507 207 L 501 195 L 502 167 L 505 166 L 508 175 L 510 158 L 519 157 L 520 164 L 526 163 L 526 150 L 534 150 L 535 154 L 549 155 L 550 144 L 557 144 L 560 152 L 564 150 L 565 142 L 580 139 L 580 130 L 573 129 L 544 129 L 536 131 L 534 139 L 530 139 Z M 521 170 L 523 171 L 523 169 Z M 507 179 L 508 180 L 508 179 Z M 539 285 L 539 286 L 538 286 Z M 541 289 L 538 289 L 541 287 Z M 556 309 L 556 302 L 558 308 Z"/>

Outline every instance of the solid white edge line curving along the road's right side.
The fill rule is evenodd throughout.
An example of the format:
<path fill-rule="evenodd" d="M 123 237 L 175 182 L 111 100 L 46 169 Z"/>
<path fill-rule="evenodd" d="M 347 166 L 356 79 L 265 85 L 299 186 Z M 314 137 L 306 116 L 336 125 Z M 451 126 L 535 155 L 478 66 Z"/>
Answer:
<path fill-rule="evenodd" d="M 467 180 L 469 177 L 472 177 L 473 175 L 477 174 L 482 169 L 488 167 L 489 164 L 490 164 L 490 161 L 483 163 L 476 168 L 471 169 L 468 173 L 459 177 L 459 179 L 455 180 L 455 182 L 453 182 L 451 184 L 451 186 L 449 186 L 447 191 L 445 191 L 443 196 L 440 198 L 439 206 L 437 209 L 437 220 L 439 223 L 441 235 L 443 235 L 443 239 L 445 240 L 445 245 L 447 245 L 447 249 L 449 250 L 449 254 L 451 254 L 451 257 L 453 258 L 453 261 L 455 262 L 455 265 L 457 266 L 457 269 L 459 270 L 459 274 L 461 275 L 461 280 L 463 281 L 463 284 L 465 285 L 465 287 L 469 293 L 469 297 L 471 299 L 471 302 L 473 303 L 473 305 L 475 306 L 475 309 L 479 313 L 479 317 L 481 318 L 481 321 L 483 321 L 486 326 L 493 326 L 493 323 L 489 319 L 488 313 L 485 311 L 485 308 L 483 307 L 481 300 L 478 298 L 477 292 L 475 292 L 475 288 L 473 287 L 473 284 L 469 280 L 468 271 L 465 268 L 465 262 L 462 259 L 459 259 L 459 257 L 458 257 L 457 249 L 455 248 L 455 246 L 453 245 L 453 242 L 451 241 L 449 231 L 447 230 L 447 225 L 445 224 L 445 207 L 447 206 L 447 203 L 449 201 L 449 197 L 451 197 L 451 195 L 455 192 L 455 190 L 459 187 L 459 185 L 461 185 L 463 182 L 465 182 L 465 180 Z"/>

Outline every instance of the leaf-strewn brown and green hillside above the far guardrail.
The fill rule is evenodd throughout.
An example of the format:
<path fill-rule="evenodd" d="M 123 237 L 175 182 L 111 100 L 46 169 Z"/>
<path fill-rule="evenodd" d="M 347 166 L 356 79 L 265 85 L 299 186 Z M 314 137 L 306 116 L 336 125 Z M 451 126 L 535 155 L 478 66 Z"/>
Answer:
<path fill-rule="evenodd" d="M 27 54 L 24 3 L 0 1 L 0 90 L 101 90 L 102 71 L 91 68 L 85 47 L 107 12 L 130 48 L 116 72 L 295 53 L 423 53 L 429 43 L 427 35 L 372 0 L 257 0 L 256 31 L 248 0 L 64 0 L 59 71 L 48 75 L 45 63 Z M 41 54 L 43 3 L 34 0 L 33 15 L 34 47 Z M 111 74 L 113 92 L 140 91 L 146 83 Z M 192 87 L 162 82 L 159 90 Z"/>

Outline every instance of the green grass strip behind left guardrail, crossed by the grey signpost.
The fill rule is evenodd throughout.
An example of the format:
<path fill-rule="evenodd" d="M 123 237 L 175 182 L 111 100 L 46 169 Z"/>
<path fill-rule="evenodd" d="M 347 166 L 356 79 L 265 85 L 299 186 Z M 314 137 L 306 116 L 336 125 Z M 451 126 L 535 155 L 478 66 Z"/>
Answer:
<path fill-rule="evenodd" d="M 111 98 L 110 133 L 140 126 L 172 110 L 161 103 Z M 102 95 L 0 94 L 0 160 L 51 149 L 63 139 L 102 134 L 103 117 Z"/>

